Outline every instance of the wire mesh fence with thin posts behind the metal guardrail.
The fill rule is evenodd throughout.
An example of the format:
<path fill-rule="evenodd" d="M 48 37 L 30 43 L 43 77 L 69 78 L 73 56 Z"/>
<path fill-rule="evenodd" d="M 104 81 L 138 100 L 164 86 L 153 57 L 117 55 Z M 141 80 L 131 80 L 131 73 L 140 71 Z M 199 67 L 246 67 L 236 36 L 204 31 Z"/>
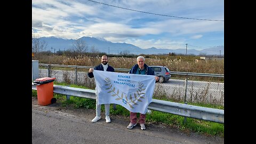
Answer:
<path fill-rule="evenodd" d="M 94 78 L 89 78 L 87 73 L 93 67 L 71 67 L 58 65 L 40 65 L 39 77 L 55 77 L 57 82 L 83 85 L 95 89 Z M 116 70 L 117 69 L 117 70 Z M 127 69 L 115 68 L 118 73 L 127 73 Z M 174 102 L 184 101 L 197 103 L 210 103 L 224 105 L 224 76 L 193 73 L 181 74 L 172 71 L 171 79 L 165 83 L 156 83 L 153 98 L 171 99 Z"/>

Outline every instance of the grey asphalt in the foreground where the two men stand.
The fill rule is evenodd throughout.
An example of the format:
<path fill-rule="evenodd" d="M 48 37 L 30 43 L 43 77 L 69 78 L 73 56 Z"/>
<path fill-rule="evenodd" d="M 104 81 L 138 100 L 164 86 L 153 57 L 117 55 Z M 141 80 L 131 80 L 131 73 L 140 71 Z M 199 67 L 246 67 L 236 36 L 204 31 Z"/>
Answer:
<path fill-rule="evenodd" d="M 224 143 L 223 138 L 209 137 L 193 132 L 182 132 L 161 124 L 146 123 L 127 129 L 129 117 L 110 115 L 106 123 L 104 113 L 92 123 L 94 109 L 61 107 L 60 103 L 37 105 L 32 97 L 32 143 Z"/>

